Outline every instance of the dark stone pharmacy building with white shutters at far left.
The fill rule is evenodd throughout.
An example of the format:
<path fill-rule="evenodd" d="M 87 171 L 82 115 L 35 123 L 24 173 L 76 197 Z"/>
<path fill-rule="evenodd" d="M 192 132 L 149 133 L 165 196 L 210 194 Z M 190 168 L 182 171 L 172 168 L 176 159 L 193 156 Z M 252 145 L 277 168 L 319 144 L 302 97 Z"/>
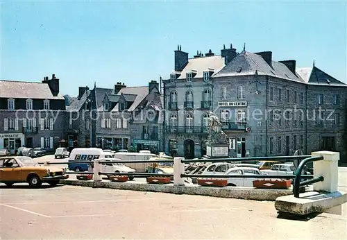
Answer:
<path fill-rule="evenodd" d="M 21 146 L 53 151 L 65 137 L 67 117 L 59 79 L 42 83 L 0 80 L 0 148 Z"/>

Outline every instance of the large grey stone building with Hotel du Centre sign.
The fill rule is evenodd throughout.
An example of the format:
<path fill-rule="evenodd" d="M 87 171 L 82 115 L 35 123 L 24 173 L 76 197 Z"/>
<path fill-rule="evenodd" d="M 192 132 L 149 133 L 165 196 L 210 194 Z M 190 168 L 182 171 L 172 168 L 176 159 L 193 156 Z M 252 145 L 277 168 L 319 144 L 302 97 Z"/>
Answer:
<path fill-rule="evenodd" d="M 218 59 L 220 65 L 212 67 L 208 63 L 211 58 Z M 192 62 L 194 67 L 190 67 Z M 326 149 L 346 154 L 347 85 L 315 66 L 297 69 L 295 60 L 274 61 L 271 51 L 250 53 L 244 49 L 236 53 L 232 47 L 224 47 L 218 56 L 210 51 L 188 59 L 188 53 L 179 47 L 175 71 L 163 83 L 167 108 L 164 124 L 169 129 L 164 139 L 168 139 L 165 147 L 169 152 L 177 151 L 187 158 L 204 155 L 205 114 L 212 110 L 223 122 L 232 157 L 292 155 L 298 149 L 303 153 Z M 205 89 L 211 90 L 210 109 L 196 104 L 187 109 L 187 93 L 193 92 L 189 99 L 200 100 Z M 176 92 L 177 98 L 173 97 Z M 310 118 L 319 107 L 334 112 L 330 118 L 325 114 L 323 119 L 318 114 Z M 185 132 L 176 126 L 183 126 Z M 177 139 L 176 144 L 171 139 Z"/>

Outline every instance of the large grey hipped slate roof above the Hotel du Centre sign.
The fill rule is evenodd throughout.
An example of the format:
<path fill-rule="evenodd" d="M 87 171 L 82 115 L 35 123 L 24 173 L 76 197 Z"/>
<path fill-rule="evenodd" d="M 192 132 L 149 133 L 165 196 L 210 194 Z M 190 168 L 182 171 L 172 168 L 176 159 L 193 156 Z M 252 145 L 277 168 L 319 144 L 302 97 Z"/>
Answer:
<path fill-rule="evenodd" d="M 242 53 L 239 53 L 234 59 L 228 62 L 226 67 L 223 67 L 221 71 L 212 76 L 218 78 L 223 76 L 254 75 L 255 71 L 257 71 L 259 75 L 273 76 L 305 83 L 301 76 L 296 76 L 296 74 L 292 73 L 283 63 L 272 61 L 271 65 L 272 67 L 267 64 L 261 55 L 242 51 Z"/>

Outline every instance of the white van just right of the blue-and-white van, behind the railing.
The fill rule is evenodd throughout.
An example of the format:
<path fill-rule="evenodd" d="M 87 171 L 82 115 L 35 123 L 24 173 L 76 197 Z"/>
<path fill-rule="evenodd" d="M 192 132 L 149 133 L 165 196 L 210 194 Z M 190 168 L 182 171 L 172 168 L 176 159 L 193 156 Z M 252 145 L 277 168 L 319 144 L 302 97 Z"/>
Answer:
<path fill-rule="evenodd" d="M 156 157 L 154 153 L 126 153 L 126 152 L 117 152 L 113 155 L 115 158 L 120 158 L 123 161 L 146 161 L 151 157 Z M 137 173 L 146 173 L 147 167 L 151 166 L 151 162 L 144 163 L 126 163 L 124 164 L 129 166 L 132 169 L 135 169 Z"/>

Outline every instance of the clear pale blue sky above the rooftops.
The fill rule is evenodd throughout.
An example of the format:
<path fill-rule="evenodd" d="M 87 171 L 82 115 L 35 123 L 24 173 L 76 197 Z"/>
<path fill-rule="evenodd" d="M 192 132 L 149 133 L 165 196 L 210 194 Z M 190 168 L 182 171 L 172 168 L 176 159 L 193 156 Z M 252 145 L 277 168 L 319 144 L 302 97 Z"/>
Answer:
<path fill-rule="evenodd" d="M 62 94 L 78 86 L 147 85 L 168 78 L 174 50 L 189 57 L 232 43 L 272 51 L 346 83 L 346 2 L 3 1 L 1 79 L 56 74 Z"/>

